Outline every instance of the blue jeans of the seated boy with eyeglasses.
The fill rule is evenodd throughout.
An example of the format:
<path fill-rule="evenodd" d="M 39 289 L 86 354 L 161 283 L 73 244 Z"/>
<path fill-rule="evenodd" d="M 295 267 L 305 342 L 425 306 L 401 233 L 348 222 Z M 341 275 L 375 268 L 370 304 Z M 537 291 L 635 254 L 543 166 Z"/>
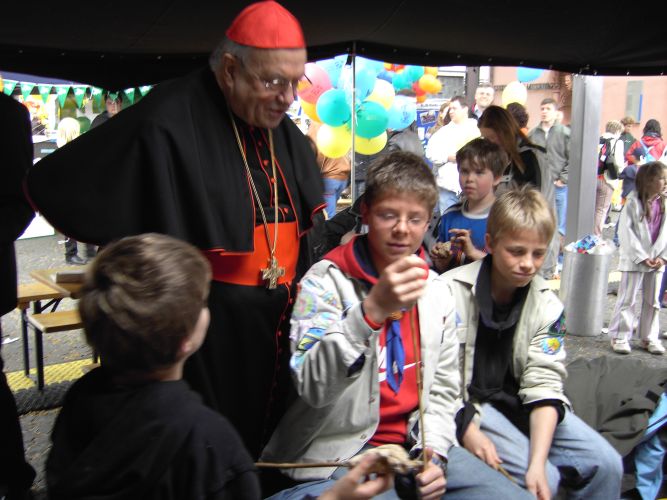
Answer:
<path fill-rule="evenodd" d="M 521 500 L 533 499 L 528 491 L 518 487 L 499 472 L 474 457 L 458 446 L 449 450 L 447 468 L 447 491 L 443 498 L 447 500 Z M 306 495 L 316 498 L 331 488 L 336 479 L 342 477 L 347 469 L 336 469 L 331 479 L 310 481 L 294 488 L 276 493 L 269 500 L 300 500 Z M 373 498 L 398 500 L 394 490 L 389 490 Z"/>

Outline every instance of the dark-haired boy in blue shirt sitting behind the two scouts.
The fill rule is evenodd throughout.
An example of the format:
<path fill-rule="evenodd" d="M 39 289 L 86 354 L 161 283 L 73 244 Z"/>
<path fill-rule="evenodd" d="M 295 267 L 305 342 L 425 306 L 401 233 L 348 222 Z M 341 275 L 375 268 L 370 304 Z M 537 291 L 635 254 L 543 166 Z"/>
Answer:
<path fill-rule="evenodd" d="M 449 207 L 437 225 L 437 243 L 431 248 L 439 273 L 483 259 L 486 219 L 509 159 L 488 139 L 473 139 L 456 153 L 463 200 Z"/>

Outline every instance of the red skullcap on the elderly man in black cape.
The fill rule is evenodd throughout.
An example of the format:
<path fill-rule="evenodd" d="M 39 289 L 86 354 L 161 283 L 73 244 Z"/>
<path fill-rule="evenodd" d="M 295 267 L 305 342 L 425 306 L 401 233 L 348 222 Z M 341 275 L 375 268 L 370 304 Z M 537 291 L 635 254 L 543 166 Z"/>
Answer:
<path fill-rule="evenodd" d="M 248 5 L 225 33 L 232 42 L 258 49 L 304 49 L 299 21 L 278 2 Z"/>

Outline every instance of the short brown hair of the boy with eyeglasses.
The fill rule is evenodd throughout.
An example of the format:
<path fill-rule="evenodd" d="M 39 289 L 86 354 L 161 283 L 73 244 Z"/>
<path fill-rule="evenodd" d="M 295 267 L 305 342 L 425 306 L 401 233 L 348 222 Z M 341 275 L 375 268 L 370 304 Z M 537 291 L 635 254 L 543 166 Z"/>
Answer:
<path fill-rule="evenodd" d="M 438 187 L 426 162 L 406 151 L 395 151 L 374 160 L 366 174 L 364 203 L 373 206 L 386 196 L 413 195 L 430 214 L 438 202 Z"/>

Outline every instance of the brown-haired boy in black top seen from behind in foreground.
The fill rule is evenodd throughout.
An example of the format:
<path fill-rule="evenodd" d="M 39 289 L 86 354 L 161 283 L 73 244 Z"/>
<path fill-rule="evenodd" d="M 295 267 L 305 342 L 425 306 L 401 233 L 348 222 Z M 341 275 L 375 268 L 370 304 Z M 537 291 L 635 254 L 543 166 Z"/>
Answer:
<path fill-rule="evenodd" d="M 201 253 L 146 234 L 106 247 L 79 311 L 102 366 L 68 392 L 47 461 L 52 499 L 259 498 L 227 420 L 182 380 L 208 328 Z"/>

